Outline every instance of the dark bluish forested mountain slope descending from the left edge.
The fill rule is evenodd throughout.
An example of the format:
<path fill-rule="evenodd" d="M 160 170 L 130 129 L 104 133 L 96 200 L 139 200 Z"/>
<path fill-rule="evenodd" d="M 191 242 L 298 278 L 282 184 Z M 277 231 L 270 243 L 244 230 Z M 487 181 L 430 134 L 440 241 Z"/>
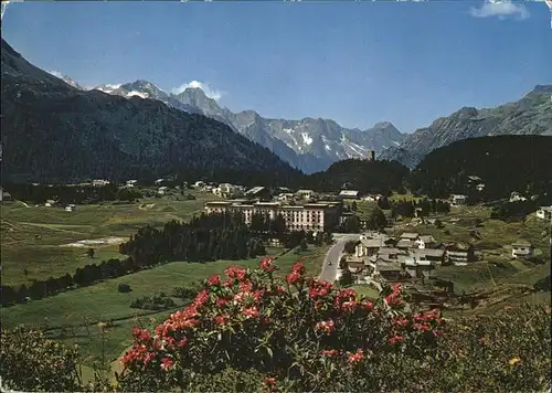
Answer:
<path fill-rule="evenodd" d="M 75 88 L 30 64 L 3 40 L 1 65 L 4 179 L 71 181 L 174 172 L 216 178 L 262 172 L 285 182 L 299 176 L 226 125 L 138 94 L 126 99 Z M 140 86 L 128 87 L 134 92 Z M 162 92 L 158 94 L 162 98 Z"/>

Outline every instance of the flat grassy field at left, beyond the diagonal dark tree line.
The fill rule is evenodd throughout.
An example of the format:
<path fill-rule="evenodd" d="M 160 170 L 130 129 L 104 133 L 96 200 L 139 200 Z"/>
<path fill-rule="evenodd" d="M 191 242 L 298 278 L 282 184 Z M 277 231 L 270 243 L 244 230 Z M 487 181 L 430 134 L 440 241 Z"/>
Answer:
<path fill-rule="evenodd" d="M 128 238 L 147 224 L 162 226 L 170 220 L 189 220 L 213 194 L 195 192 L 195 200 L 151 198 L 132 204 L 79 205 L 74 212 L 60 208 L 25 206 L 21 202 L 1 205 L 2 283 L 18 285 L 28 279 L 46 279 L 89 263 L 87 247 L 66 244 L 107 236 Z M 95 259 L 121 257 L 118 245 L 95 246 Z M 28 270 L 28 279 L 23 274 Z"/>

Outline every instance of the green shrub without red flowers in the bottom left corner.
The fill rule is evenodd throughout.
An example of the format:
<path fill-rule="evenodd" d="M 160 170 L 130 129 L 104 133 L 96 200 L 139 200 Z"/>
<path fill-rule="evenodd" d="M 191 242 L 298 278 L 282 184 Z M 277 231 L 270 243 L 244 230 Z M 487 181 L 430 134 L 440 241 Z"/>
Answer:
<path fill-rule="evenodd" d="M 0 374 L 2 387 L 19 391 L 76 392 L 78 352 L 47 340 L 39 330 L 2 329 Z"/>

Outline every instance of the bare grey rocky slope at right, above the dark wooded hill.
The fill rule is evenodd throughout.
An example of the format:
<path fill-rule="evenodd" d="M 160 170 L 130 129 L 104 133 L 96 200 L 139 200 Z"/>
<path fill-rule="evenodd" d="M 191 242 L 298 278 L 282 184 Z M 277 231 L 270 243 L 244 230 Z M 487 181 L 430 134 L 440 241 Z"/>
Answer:
<path fill-rule="evenodd" d="M 497 135 L 552 135 L 552 86 L 537 86 L 521 99 L 497 108 L 464 107 L 417 129 L 380 158 L 413 168 L 431 151 L 454 141 Z"/>

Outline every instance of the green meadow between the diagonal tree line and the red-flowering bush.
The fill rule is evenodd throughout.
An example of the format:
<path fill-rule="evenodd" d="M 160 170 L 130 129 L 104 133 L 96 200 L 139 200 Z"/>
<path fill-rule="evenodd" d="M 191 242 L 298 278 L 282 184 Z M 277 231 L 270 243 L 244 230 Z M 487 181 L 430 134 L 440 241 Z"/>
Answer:
<path fill-rule="evenodd" d="M 295 251 L 288 252 L 278 257 L 276 264 L 280 270 L 277 274 L 283 276 L 289 273 L 291 265 L 298 259 L 302 259 L 308 274 L 317 275 L 320 272 L 326 251 L 326 246 L 311 246 L 308 251 L 299 254 L 296 254 Z M 269 249 L 272 255 L 278 255 L 282 252 L 282 248 Z M 146 310 L 131 309 L 129 305 L 134 299 L 150 296 L 160 290 L 170 295 L 174 287 L 190 286 L 212 274 L 220 274 L 225 267 L 234 264 L 255 268 L 258 266 L 258 258 L 217 261 L 205 264 L 169 263 L 89 287 L 2 309 L 2 325 L 8 328 L 19 323 L 40 327 L 47 329 L 51 338 L 66 343 L 78 343 L 85 358 L 83 363 L 87 365 L 94 359 L 99 359 L 102 353 L 107 360 L 114 360 L 129 346 L 131 329 L 137 326 L 138 317 L 142 323 L 152 326 L 162 321 L 171 312 L 150 314 Z M 119 283 L 130 285 L 132 291 L 118 293 L 117 285 Z M 179 306 L 182 306 L 179 299 L 174 300 L 179 302 Z M 149 315 L 140 317 L 139 314 Z M 114 319 L 115 326 L 107 330 L 105 340 L 103 340 L 97 322 L 109 319 Z"/>

